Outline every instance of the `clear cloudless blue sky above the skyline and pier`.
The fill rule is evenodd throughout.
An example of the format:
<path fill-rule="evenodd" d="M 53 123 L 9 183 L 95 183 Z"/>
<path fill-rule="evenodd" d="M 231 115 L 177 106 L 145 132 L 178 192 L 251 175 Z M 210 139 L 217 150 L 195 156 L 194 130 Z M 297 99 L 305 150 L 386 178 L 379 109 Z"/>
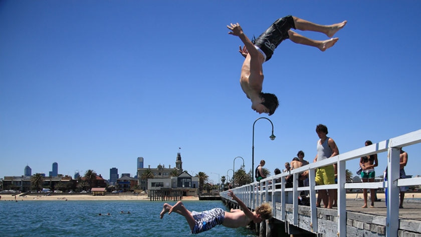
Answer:
<path fill-rule="evenodd" d="M 348 20 L 326 52 L 284 41 L 264 64 L 280 105 L 255 126 L 255 165 L 273 172 L 316 155 L 317 124 L 347 152 L 421 129 L 420 1 L 1 1 L 0 177 L 109 169 L 137 157 L 218 181 L 241 156 L 251 168 L 261 115 L 241 90 L 240 23 L 259 36 L 277 18 Z M 300 32 L 317 40 L 325 35 Z M 408 152 L 418 175 L 421 145 Z M 235 169 L 240 168 L 236 160 Z M 358 161 L 347 162 L 355 173 Z M 379 154 L 376 174 L 386 166 Z M 217 174 L 214 174 L 217 173 Z M 229 176 L 232 176 L 230 171 Z"/>

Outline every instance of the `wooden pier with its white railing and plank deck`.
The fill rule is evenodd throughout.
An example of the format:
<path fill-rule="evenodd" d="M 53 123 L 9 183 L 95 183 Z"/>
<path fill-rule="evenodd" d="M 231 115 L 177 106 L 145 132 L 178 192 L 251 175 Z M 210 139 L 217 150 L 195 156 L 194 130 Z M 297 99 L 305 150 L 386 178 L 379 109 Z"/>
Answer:
<path fill-rule="evenodd" d="M 421 203 L 405 202 L 399 209 L 399 187 L 421 185 L 421 178 L 399 179 L 399 150 L 401 147 L 421 143 L 421 130 L 362 147 L 338 156 L 311 163 L 233 189 L 234 193 L 252 210 L 263 202 L 269 202 L 273 219 L 260 224 L 260 236 L 272 236 L 271 228 L 277 223 L 285 225 L 290 234 L 302 232 L 317 236 L 417 236 L 421 237 Z M 371 183 L 346 183 L 346 161 L 387 152 L 387 181 Z M 409 161 L 410 162 L 410 161 Z M 315 170 L 319 167 L 337 164 L 338 184 L 318 185 L 314 183 Z M 309 171 L 309 186 L 298 187 L 298 174 Z M 292 188 L 285 188 L 285 178 L 293 175 Z M 280 181 L 277 181 L 280 180 Z M 280 186 L 280 187 L 279 187 Z M 273 187 L 277 187 L 273 189 Z M 278 188 L 279 187 L 279 188 Z M 387 188 L 387 202 L 375 202 L 375 208 L 361 208 L 361 199 L 346 199 L 347 189 Z M 317 208 L 316 193 L 320 189 L 337 189 L 337 204 L 333 209 Z M 308 191 L 309 206 L 299 205 L 301 191 Z M 222 200 L 230 207 L 238 206 L 228 195 L 221 193 Z M 266 230 L 266 231 L 262 231 Z"/>

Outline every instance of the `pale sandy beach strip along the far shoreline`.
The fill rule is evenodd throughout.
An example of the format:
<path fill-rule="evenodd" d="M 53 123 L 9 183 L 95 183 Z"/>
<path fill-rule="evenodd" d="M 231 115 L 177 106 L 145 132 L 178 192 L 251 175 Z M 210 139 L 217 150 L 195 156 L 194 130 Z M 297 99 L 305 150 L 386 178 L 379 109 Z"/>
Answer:
<path fill-rule="evenodd" d="M 0 195 L 2 198 L 0 201 L 7 200 L 7 201 L 14 201 L 15 196 L 11 194 L 2 194 Z M 347 193 L 347 199 L 362 199 L 362 193 Z M 377 192 L 377 198 L 384 199 L 383 192 Z M 421 198 L 421 193 L 406 193 L 405 199 L 411 198 Z M 51 195 L 46 194 L 37 194 L 32 193 L 26 196 L 16 195 L 17 201 L 37 201 L 37 200 L 50 200 L 50 201 L 72 201 L 72 200 L 150 200 L 146 194 L 143 195 L 134 195 L 132 193 L 119 193 L 119 194 L 106 194 L 104 196 L 93 196 L 90 193 L 86 194 L 61 194 L 61 193 L 52 193 Z M 194 196 L 187 196 L 183 197 L 183 201 L 197 201 L 199 200 L 198 197 Z"/>

